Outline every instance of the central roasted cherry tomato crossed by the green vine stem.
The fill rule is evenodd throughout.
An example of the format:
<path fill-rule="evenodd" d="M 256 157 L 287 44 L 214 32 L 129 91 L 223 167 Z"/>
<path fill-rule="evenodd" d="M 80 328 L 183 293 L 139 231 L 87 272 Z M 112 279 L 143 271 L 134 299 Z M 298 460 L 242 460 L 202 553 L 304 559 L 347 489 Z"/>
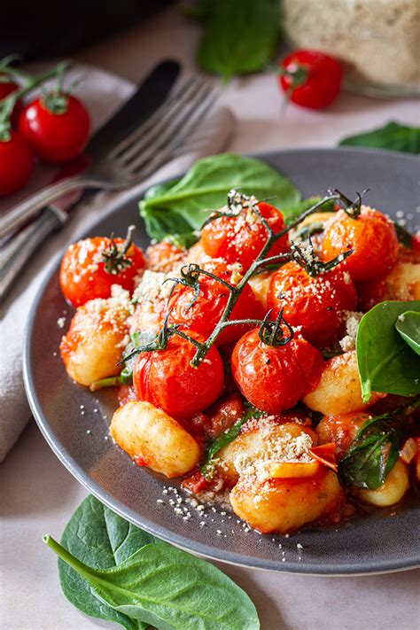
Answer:
<path fill-rule="evenodd" d="M 208 261 L 202 264 L 201 268 L 233 285 L 236 285 L 242 277 L 235 268 L 231 268 L 222 261 Z M 194 303 L 192 300 L 195 292 L 192 286 L 185 284 L 175 286 L 168 302 L 168 307 L 172 309 L 170 323 L 182 323 L 207 338 L 222 317 L 228 303 L 229 289 L 213 277 L 201 274 L 198 276 L 198 283 L 199 293 Z M 229 319 L 259 319 L 261 315 L 260 303 L 255 299 L 251 287 L 245 284 Z M 246 325 L 228 326 L 217 338 L 216 344 L 236 341 L 247 330 L 249 326 Z"/>

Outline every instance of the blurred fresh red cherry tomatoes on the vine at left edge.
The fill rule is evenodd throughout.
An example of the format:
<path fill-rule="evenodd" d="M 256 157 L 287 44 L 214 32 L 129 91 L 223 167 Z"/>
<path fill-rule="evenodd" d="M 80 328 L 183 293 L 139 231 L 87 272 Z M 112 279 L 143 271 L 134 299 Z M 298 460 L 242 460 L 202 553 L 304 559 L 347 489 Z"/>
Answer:
<path fill-rule="evenodd" d="M 0 66 L 0 197 L 4 197 L 27 183 L 35 158 L 62 164 L 79 156 L 89 139 L 90 121 L 82 101 L 63 91 L 60 82 L 51 93 L 22 103 L 22 97 L 42 84 L 43 76 L 51 78 L 51 72 L 25 75 L 26 83 L 20 84 L 11 78 L 12 67 Z"/>

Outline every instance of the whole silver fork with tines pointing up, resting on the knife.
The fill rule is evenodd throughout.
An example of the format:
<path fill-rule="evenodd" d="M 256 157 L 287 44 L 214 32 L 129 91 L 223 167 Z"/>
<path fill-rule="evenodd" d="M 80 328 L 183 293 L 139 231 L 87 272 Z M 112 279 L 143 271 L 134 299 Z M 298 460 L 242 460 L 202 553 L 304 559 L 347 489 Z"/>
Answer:
<path fill-rule="evenodd" d="M 43 206 L 71 191 L 117 191 L 145 179 L 170 157 L 175 146 L 197 127 L 217 98 L 205 80 L 187 79 L 164 105 L 130 136 L 80 175 L 53 183 L 14 206 L 0 219 L 0 238 L 19 229 Z"/>

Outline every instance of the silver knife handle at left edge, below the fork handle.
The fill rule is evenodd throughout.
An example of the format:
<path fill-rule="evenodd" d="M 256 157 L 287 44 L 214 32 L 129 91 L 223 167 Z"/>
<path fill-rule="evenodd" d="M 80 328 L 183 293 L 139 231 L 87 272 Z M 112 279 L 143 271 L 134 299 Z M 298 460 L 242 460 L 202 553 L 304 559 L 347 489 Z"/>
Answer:
<path fill-rule="evenodd" d="M 0 301 L 16 280 L 19 272 L 43 240 L 67 221 L 68 215 L 57 207 L 47 206 L 35 221 L 22 229 L 12 241 L 2 248 L 0 262 Z"/>

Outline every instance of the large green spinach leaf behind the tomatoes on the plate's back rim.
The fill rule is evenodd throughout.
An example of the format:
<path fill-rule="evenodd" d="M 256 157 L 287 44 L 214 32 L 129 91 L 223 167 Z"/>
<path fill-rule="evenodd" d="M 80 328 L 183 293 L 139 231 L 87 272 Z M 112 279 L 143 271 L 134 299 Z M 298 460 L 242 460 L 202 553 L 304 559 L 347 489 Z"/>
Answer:
<path fill-rule="evenodd" d="M 299 201 L 299 191 L 289 180 L 260 159 L 221 153 L 199 159 L 173 186 L 148 191 L 140 202 L 151 238 L 185 235 L 200 229 L 208 215 L 224 206 L 231 188 L 256 198 L 272 198 L 277 207 Z"/>

